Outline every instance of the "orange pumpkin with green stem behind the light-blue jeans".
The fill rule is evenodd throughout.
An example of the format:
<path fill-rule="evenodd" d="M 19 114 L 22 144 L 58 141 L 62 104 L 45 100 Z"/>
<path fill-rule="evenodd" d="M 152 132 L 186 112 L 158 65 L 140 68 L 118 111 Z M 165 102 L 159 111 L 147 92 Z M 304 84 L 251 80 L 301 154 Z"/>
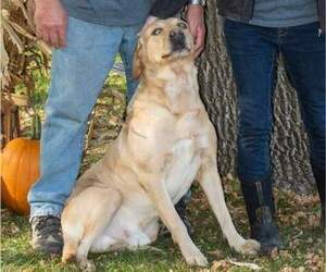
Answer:
<path fill-rule="evenodd" d="M 7 208 L 22 215 L 29 213 L 27 194 L 39 177 L 40 145 L 39 140 L 34 138 L 38 137 L 15 138 L 9 141 L 0 160 L 1 201 Z"/>

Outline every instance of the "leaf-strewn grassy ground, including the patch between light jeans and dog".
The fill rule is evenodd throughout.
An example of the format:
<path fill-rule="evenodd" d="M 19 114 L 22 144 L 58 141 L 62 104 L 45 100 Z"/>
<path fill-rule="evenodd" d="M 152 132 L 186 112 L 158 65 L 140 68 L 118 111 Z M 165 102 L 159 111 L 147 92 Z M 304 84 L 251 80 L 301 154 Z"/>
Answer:
<path fill-rule="evenodd" d="M 92 133 L 89 135 L 82 172 L 101 158 L 118 134 L 124 113 L 121 75 L 112 74 L 97 103 Z M 42 99 L 40 99 L 42 100 Z M 24 124 L 28 131 L 28 122 Z M 239 183 L 234 177 L 224 178 L 225 196 L 239 232 L 248 237 L 248 222 Z M 223 238 L 220 225 L 210 211 L 206 198 L 199 186 L 192 188 L 188 211 L 196 245 L 209 258 L 208 269 L 188 267 L 170 235 L 160 236 L 146 250 L 90 255 L 98 271 L 159 272 L 159 271 L 324 271 L 325 233 L 319 224 L 319 205 L 316 194 L 299 196 L 276 189 L 280 233 L 286 250 L 266 257 L 242 257 L 231 250 Z M 1 210 L 1 271 L 78 271 L 74 264 L 62 265 L 60 257 L 33 251 L 28 218 L 18 217 L 8 209 Z M 248 267 L 247 267 L 248 265 Z"/>

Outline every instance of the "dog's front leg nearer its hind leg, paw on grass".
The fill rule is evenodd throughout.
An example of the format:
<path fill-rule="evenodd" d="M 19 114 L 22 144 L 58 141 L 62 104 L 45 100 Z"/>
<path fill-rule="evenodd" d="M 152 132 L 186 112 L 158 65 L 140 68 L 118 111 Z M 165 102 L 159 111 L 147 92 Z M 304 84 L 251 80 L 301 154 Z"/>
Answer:
<path fill-rule="evenodd" d="M 190 265 L 206 267 L 206 258 L 189 237 L 184 222 L 174 208 L 164 177 L 149 174 L 145 180 L 147 193 L 154 202 L 161 220 L 171 232 L 173 240 L 178 244 L 186 262 Z"/>

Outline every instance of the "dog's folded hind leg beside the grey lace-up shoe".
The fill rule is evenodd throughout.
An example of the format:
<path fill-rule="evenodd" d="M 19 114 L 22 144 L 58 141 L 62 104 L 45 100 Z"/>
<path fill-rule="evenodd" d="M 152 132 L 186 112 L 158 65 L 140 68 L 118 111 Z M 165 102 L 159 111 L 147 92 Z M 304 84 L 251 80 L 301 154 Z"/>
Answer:
<path fill-rule="evenodd" d="M 121 201 L 115 189 L 98 187 L 89 187 L 71 199 L 62 213 L 63 262 L 75 258 L 84 270 L 95 269 L 87 260 L 88 251 L 96 237 L 110 224 Z"/>

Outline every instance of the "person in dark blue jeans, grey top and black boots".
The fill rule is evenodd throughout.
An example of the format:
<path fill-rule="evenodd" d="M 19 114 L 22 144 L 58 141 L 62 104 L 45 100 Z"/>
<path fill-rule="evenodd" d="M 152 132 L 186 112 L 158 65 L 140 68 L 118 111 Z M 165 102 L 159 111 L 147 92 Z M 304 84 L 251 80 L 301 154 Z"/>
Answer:
<path fill-rule="evenodd" d="M 275 223 L 269 143 L 277 60 L 298 94 L 325 218 L 325 34 L 313 0 L 258 0 L 248 22 L 226 16 L 224 34 L 237 85 L 238 175 L 251 236 L 262 252 L 283 248 Z"/>

